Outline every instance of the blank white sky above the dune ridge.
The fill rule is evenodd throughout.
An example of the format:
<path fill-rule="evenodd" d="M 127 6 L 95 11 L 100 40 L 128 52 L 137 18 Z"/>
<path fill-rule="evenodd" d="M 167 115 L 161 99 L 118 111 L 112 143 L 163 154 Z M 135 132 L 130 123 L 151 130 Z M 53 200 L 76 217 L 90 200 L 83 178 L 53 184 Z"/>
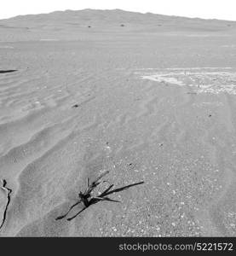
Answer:
<path fill-rule="evenodd" d="M 236 20 L 236 0 L 0 0 L 0 19 L 65 9 L 124 9 L 160 15 Z"/>

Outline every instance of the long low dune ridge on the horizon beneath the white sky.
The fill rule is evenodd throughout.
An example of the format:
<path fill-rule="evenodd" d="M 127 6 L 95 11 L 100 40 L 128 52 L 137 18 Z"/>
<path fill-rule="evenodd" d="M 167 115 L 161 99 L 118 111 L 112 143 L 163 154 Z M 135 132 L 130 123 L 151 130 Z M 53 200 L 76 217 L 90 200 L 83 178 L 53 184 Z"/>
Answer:
<path fill-rule="evenodd" d="M 179 16 L 156 15 L 152 13 L 141 14 L 122 9 L 99 10 L 66 10 L 55 11 L 40 15 L 19 15 L 10 19 L 0 20 L 0 25 L 12 26 L 83 26 L 84 24 L 99 25 L 106 24 L 130 24 L 140 26 L 193 26 L 202 29 L 221 29 L 224 26 L 236 26 L 235 21 L 227 20 L 204 20 L 199 18 L 186 18 Z"/>

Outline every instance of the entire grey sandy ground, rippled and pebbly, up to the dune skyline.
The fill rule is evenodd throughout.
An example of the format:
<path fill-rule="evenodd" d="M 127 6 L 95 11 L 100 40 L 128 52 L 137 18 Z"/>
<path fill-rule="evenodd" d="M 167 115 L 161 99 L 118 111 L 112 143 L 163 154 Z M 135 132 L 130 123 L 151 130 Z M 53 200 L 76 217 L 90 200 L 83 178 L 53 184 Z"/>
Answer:
<path fill-rule="evenodd" d="M 19 16 L 0 60 L 0 236 L 236 236 L 236 22 Z M 144 183 L 55 220 L 106 170 Z"/>

